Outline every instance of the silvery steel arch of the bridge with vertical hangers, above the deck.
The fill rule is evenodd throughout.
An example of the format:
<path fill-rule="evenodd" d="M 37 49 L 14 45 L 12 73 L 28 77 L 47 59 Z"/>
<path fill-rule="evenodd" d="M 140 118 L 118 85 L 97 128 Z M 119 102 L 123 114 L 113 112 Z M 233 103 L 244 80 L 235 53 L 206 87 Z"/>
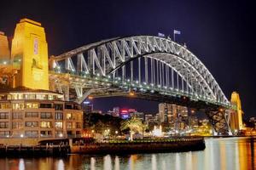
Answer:
<path fill-rule="evenodd" d="M 139 71 L 141 70 L 142 59 L 144 59 L 145 67 L 147 67 L 143 75 L 142 71 L 139 72 L 139 84 L 143 83 L 142 77 L 144 77 L 144 82 L 146 83 L 160 85 L 160 88 L 174 91 L 175 87 L 172 83 L 175 82 L 173 80 L 175 77 L 170 76 L 172 75 L 170 72 L 175 71 L 180 77 L 181 82 L 186 82 L 189 89 L 181 89 L 180 85 L 180 89 L 176 89 L 179 94 L 193 94 L 197 99 L 208 100 L 216 105 L 230 105 L 229 100 L 218 86 L 218 82 L 212 77 L 212 74 L 202 64 L 201 60 L 195 54 L 192 54 L 188 48 L 163 37 L 137 36 L 113 38 L 91 43 L 65 54 L 52 57 L 51 68 L 55 72 L 62 72 L 64 70 L 77 75 L 89 74 L 90 77 L 110 76 L 113 80 L 117 77 L 118 70 L 121 70 L 121 79 L 125 79 L 125 65 L 130 63 L 131 67 L 133 59 L 138 59 Z M 64 62 L 65 66 L 61 66 L 61 62 Z M 75 62 L 76 65 L 74 65 Z M 151 65 L 148 64 L 150 62 Z M 154 63 L 153 65 L 152 62 Z M 149 70 L 156 70 L 156 68 L 153 69 L 152 67 L 158 67 L 157 71 L 159 72 L 154 73 L 154 75 L 148 73 Z M 163 75 L 160 75 L 161 71 L 159 69 L 164 68 L 165 70 L 167 67 L 169 73 L 164 73 L 163 75 L 169 74 L 169 77 L 163 77 Z M 162 78 L 163 80 L 166 78 L 166 85 L 160 82 L 152 82 L 152 77 Z M 130 81 L 137 82 L 133 77 L 130 77 Z M 74 85 L 73 88 L 76 89 L 78 97 L 82 101 L 86 95 L 83 95 L 84 91 L 79 86 Z"/>

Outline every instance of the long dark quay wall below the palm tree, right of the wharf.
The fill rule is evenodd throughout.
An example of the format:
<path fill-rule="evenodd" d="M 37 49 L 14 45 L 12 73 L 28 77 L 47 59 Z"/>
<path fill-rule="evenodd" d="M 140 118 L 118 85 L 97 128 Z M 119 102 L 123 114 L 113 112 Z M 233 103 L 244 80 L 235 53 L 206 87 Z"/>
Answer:
<path fill-rule="evenodd" d="M 73 154 L 157 153 L 204 150 L 204 139 L 73 145 Z"/>

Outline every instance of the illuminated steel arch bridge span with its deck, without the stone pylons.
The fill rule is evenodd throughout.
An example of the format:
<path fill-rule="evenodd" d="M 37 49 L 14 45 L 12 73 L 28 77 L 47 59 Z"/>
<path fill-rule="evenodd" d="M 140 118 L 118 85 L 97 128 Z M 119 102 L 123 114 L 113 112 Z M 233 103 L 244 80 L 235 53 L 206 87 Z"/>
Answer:
<path fill-rule="evenodd" d="M 154 36 L 116 37 L 49 58 L 50 89 L 84 99 L 130 96 L 204 111 L 215 132 L 230 133 L 232 109 L 218 82 L 188 48 Z"/>

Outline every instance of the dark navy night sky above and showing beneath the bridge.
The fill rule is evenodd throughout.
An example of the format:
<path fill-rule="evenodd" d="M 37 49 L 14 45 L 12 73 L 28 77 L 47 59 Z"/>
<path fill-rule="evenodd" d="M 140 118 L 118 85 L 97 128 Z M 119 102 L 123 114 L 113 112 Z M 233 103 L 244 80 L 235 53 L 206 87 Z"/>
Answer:
<path fill-rule="evenodd" d="M 49 54 L 110 37 L 172 35 L 207 66 L 224 94 L 241 95 L 245 116 L 256 116 L 255 5 L 247 1 L 26 1 L 1 0 L 0 30 L 11 37 L 23 17 L 41 22 L 47 33 Z M 156 112 L 157 104 L 131 99 L 96 99 L 95 107 L 114 105 Z"/>

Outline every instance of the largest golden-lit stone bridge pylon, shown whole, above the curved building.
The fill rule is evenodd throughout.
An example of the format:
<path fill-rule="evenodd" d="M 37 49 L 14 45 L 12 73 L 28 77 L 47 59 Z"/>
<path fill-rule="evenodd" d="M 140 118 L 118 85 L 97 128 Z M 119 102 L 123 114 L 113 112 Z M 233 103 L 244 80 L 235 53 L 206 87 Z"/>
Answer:
<path fill-rule="evenodd" d="M 49 90 L 48 46 L 40 23 L 22 19 L 16 25 L 11 64 L 17 70 L 13 88 Z"/>

